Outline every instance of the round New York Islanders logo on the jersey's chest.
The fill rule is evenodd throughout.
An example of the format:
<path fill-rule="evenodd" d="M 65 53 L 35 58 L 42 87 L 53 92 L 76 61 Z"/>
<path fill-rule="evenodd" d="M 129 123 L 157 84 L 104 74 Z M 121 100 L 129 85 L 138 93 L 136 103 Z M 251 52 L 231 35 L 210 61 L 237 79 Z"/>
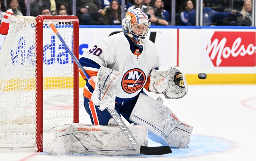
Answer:
<path fill-rule="evenodd" d="M 124 73 L 121 85 L 126 93 L 134 93 L 142 88 L 145 80 L 145 73 L 138 68 L 134 68 Z"/>

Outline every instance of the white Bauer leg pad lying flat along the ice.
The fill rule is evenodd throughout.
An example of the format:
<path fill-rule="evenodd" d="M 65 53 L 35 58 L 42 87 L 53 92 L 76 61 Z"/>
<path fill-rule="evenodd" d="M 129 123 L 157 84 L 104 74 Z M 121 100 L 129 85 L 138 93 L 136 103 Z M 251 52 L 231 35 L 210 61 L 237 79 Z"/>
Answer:
<path fill-rule="evenodd" d="M 148 145 L 146 126 L 128 126 L 136 140 Z M 47 144 L 52 154 L 137 155 L 118 126 L 66 124 L 54 129 L 55 139 Z"/>

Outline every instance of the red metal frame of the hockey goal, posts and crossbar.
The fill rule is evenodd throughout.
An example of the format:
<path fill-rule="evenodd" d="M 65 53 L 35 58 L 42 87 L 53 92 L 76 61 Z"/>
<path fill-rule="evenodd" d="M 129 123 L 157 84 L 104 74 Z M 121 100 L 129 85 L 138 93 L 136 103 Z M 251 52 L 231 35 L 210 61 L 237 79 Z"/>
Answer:
<path fill-rule="evenodd" d="M 79 21 L 76 16 L 37 16 L 36 18 L 36 35 L 43 35 L 43 26 L 45 24 L 45 21 L 52 21 L 52 22 L 63 22 L 69 21 L 73 22 L 73 53 L 76 56 L 76 58 L 79 59 Z M 40 66 L 41 70 L 37 70 L 37 96 L 43 98 L 43 36 L 37 36 L 36 37 L 36 44 L 37 45 L 37 65 Z M 79 122 L 79 76 L 78 76 L 78 67 L 76 63 L 73 63 L 74 65 L 74 123 Z M 37 99 L 37 106 L 39 107 L 39 110 L 43 111 L 43 99 Z M 40 111 L 41 115 L 37 116 L 39 117 L 39 120 L 43 120 L 43 112 Z M 38 122 L 37 126 L 37 149 L 38 152 L 43 151 L 43 121 Z"/>

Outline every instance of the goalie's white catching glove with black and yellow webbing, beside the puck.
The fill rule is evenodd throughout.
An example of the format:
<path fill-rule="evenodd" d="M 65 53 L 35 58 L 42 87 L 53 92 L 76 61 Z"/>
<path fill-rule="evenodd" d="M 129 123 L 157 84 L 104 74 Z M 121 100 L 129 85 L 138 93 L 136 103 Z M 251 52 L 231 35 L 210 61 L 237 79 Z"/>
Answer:
<path fill-rule="evenodd" d="M 180 99 L 188 93 L 188 84 L 179 67 L 152 70 L 149 91 L 162 93 L 167 99 Z"/>

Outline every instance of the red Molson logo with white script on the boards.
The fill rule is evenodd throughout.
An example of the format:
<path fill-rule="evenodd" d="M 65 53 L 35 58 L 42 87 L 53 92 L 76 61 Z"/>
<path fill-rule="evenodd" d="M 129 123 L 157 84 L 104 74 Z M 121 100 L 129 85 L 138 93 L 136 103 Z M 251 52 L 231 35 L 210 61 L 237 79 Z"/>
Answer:
<path fill-rule="evenodd" d="M 206 46 L 206 54 L 215 67 L 254 67 L 255 38 L 255 32 L 216 31 Z"/>

